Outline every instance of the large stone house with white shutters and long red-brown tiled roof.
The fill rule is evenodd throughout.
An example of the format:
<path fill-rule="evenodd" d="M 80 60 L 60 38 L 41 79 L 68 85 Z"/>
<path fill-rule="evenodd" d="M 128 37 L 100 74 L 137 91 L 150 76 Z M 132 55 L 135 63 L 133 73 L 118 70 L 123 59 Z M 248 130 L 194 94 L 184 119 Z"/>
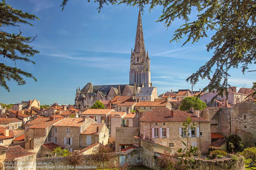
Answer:
<path fill-rule="evenodd" d="M 211 144 L 210 122 L 189 111 L 170 110 L 168 108 L 152 108 L 152 111 L 140 112 L 140 135 L 150 141 L 174 148 L 184 148 L 183 142 L 187 142 L 187 129 L 183 122 L 187 117 L 192 119 L 196 128 L 190 129 L 188 146 L 197 146 L 202 153 L 208 152 Z M 185 137 L 181 137 L 185 136 Z"/>

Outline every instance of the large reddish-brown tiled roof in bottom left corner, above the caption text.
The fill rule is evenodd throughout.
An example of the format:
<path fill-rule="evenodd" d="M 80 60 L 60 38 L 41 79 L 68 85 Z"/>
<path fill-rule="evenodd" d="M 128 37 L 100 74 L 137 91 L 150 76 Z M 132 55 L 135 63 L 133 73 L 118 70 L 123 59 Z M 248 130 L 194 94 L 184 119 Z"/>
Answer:
<path fill-rule="evenodd" d="M 10 146 L 8 147 L 8 151 L 6 151 L 5 159 L 15 159 L 23 156 L 34 154 L 34 152 L 29 152 L 23 149 L 20 145 Z"/>

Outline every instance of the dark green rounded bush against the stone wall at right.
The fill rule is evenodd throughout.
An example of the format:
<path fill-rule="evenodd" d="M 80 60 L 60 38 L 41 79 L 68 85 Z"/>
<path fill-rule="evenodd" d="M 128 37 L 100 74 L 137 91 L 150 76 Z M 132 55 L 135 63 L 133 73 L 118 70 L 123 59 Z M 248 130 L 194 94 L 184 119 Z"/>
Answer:
<path fill-rule="evenodd" d="M 228 137 L 228 149 L 230 152 L 232 152 L 232 143 L 234 146 L 234 152 L 241 152 L 243 151 L 244 145 L 242 144 L 242 139 L 238 135 L 230 135 Z"/>

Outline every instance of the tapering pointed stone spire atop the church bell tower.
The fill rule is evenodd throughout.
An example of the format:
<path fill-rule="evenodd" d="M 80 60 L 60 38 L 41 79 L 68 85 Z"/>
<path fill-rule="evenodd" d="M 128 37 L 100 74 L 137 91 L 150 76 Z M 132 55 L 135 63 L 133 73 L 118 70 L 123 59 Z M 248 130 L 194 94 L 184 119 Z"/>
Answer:
<path fill-rule="evenodd" d="M 136 53 L 145 53 L 145 44 L 144 44 L 140 11 L 139 11 L 139 16 L 138 16 L 137 32 L 136 32 L 134 50 Z"/>

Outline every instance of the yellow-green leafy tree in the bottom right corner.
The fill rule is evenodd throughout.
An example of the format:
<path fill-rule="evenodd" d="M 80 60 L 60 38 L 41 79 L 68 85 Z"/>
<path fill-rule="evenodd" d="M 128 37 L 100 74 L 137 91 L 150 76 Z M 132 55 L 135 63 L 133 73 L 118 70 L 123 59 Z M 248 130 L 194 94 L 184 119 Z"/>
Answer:
<path fill-rule="evenodd" d="M 251 147 L 251 148 L 246 148 L 244 149 L 243 152 L 240 153 L 240 155 L 244 156 L 244 163 L 248 167 L 247 169 L 256 169 L 256 148 Z"/>

